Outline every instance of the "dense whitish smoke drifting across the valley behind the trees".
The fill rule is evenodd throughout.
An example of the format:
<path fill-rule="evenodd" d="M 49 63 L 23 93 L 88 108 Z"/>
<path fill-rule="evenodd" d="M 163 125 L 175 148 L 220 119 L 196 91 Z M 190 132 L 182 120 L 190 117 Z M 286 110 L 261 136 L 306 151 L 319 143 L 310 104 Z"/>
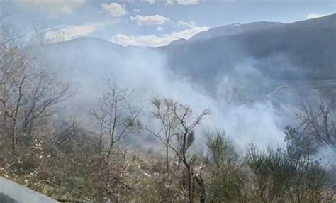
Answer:
<path fill-rule="evenodd" d="M 205 131 L 216 129 L 223 129 L 241 148 L 248 143 L 265 146 L 284 141 L 282 118 L 276 114 L 270 101 L 230 102 L 225 98 L 231 96 L 223 93 L 215 97 L 206 92 L 197 80 L 175 75 L 162 53 L 144 48 L 111 49 L 101 43 L 105 42 L 82 39 L 32 49 L 33 53 L 38 53 L 38 60 L 57 68 L 77 88 L 77 95 L 69 103 L 71 111 L 86 111 L 96 105 L 95 98 L 106 91 L 107 81 L 111 79 L 118 86 L 132 90 L 132 103 L 143 106 L 141 120 L 146 126 L 153 124 L 152 106 L 148 100 L 160 96 L 189 104 L 196 112 L 210 109 L 211 115 L 198 127 L 198 143 L 205 138 Z M 67 45 L 66 55 L 60 52 L 64 45 Z M 76 49 L 77 45 L 83 48 Z M 233 77 L 259 75 L 248 65 L 248 62 L 237 65 L 237 74 Z M 223 84 L 225 78 L 219 81 L 222 83 L 213 87 L 219 92 L 228 85 L 240 85 L 227 80 Z"/>

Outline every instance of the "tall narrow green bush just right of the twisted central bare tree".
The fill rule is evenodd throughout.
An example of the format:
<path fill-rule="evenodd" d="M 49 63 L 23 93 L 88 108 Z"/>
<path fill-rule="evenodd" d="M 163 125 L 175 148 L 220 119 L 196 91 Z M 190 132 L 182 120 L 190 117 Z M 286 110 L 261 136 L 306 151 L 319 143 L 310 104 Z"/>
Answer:
<path fill-rule="evenodd" d="M 244 182 L 233 143 L 224 132 L 208 135 L 206 140 L 206 192 L 208 202 L 243 202 Z"/>

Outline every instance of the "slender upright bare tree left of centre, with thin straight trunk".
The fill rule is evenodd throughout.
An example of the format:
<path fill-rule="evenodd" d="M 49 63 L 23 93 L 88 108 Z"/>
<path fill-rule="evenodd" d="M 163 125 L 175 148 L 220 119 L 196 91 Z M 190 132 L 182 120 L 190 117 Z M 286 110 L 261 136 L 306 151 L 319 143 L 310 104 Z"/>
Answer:
<path fill-rule="evenodd" d="M 99 98 L 99 111 L 94 110 L 94 116 L 99 121 L 101 137 L 108 136 L 109 144 L 104 155 L 104 165 L 106 172 L 102 177 L 106 192 L 111 180 L 111 153 L 116 143 L 123 140 L 131 133 L 135 133 L 140 129 L 140 121 L 138 116 L 140 109 L 133 109 L 128 103 L 130 92 L 116 84 L 108 82 L 108 92 Z M 99 143 L 101 144 L 101 143 Z M 101 146 L 99 146 L 101 148 Z"/>

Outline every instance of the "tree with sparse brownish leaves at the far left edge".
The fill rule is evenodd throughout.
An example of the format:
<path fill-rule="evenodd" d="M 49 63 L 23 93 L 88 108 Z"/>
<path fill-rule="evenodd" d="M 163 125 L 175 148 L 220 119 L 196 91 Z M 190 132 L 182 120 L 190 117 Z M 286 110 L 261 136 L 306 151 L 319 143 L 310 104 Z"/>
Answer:
<path fill-rule="evenodd" d="M 16 124 L 26 82 L 28 57 L 19 54 L 14 47 L 18 41 L 18 31 L 9 21 L 9 13 L 0 14 L 0 101 L 2 106 L 3 135 L 6 133 L 7 119 L 11 125 L 13 150 L 16 150 Z"/>

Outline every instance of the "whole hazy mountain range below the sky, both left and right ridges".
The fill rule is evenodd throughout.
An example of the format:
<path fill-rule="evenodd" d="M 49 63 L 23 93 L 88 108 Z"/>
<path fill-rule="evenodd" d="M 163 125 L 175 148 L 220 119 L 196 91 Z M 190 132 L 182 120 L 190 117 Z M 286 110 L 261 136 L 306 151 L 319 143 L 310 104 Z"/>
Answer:
<path fill-rule="evenodd" d="M 247 87 L 264 79 L 336 79 L 336 14 L 295 23 L 231 24 L 159 48 L 77 38 L 26 51 L 68 75 L 84 77 L 86 84 L 94 81 L 90 85 L 141 64 L 169 67 L 210 92 L 225 75 L 249 81 Z"/>

